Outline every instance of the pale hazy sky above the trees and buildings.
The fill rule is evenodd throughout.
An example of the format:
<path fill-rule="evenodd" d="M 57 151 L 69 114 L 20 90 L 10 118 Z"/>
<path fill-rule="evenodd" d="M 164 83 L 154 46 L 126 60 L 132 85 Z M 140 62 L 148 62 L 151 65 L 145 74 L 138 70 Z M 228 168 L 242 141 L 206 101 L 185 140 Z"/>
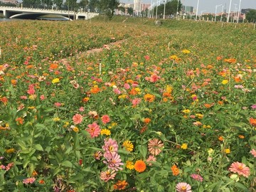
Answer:
<path fill-rule="evenodd" d="M 134 0 L 119 0 L 120 2 L 124 2 L 127 4 L 133 4 Z M 141 0 L 142 3 L 151 3 L 151 0 Z M 156 2 L 157 0 L 153 0 L 153 2 Z M 164 0 L 163 0 L 164 1 Z M 170 1 L 170 0 L 169 0 Z M 235 11 L 235 4 L 236 9 L 238 9 L 240 0 L 231 0 L 231 11 Z M 185 6 L 193 6 L 194 9 L 196 9 L 198 0 L 181 0 L 181 3 Z M 215 13 L 215 7 L 216 5 L 223 4 L 224 9 L 229 11 L 230 6 L 230 0 L 199 0 L 199 6 L 198 6 L 198 14 L 201 13 L 201 11 L 207 12 L 207 13 Z M 256 0 L 241 0 L 241 9 L 256 9 Z M 221 11 L 221 6 L 218 6 L 217 12 Z"/>

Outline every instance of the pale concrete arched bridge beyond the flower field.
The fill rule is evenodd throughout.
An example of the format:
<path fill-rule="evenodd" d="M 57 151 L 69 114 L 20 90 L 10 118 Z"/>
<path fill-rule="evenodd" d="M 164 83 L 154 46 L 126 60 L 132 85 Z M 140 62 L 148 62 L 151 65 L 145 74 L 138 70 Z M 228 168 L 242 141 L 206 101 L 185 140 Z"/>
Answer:
<path fill-rule="evenodd" d="M 15 6 L 0 6 L 0 14 L 6 18 L 40 19 L 40 16 L 58 16 L 63 20 L 90 19 L 98 14 L 85 11 L 67 11 L 55 9 L 34 9 Z"/>

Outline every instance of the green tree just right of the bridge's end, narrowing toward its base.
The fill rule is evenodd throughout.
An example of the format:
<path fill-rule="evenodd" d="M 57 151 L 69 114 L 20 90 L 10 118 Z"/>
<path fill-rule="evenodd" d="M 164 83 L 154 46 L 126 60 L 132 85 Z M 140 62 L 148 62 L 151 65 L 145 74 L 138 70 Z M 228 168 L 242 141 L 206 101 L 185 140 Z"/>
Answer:
<path fill-rule="evenodd" d="M 119 0 L 100 0 L 99 9 L 111 19 L 114 16 L 114 9 L 117 9 L 119 4 Z"/>

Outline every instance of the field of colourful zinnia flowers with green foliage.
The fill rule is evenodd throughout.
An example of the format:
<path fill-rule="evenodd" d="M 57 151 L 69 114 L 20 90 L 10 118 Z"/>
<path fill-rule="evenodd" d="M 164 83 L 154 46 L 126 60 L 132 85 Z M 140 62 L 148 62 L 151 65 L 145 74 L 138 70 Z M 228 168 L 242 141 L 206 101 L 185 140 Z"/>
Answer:
<path fill-rule="evenodd" d="M 252 25 L 123 20 L 0 22 L 0 191 L 255 191 Z"/>

